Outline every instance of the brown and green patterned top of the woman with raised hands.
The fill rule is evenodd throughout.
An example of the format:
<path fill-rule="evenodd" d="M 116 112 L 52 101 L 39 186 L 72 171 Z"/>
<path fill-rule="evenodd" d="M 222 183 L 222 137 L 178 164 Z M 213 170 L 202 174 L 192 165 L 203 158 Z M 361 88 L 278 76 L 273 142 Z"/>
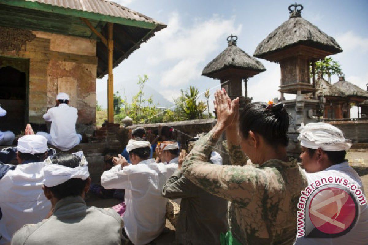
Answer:
<path fill-rule="evenodd" d="M 229 149 L 233 166 L 206 163 L 216 140 L 201 137 L 183 162 L 182 172 L 211 194 L 229 200 L 231 234 L 241 244 L 293 244 L 297 234 L 297 203 L 307 179 L 297 160 L 269 160 L 246 165 L 240 146 Z"/>

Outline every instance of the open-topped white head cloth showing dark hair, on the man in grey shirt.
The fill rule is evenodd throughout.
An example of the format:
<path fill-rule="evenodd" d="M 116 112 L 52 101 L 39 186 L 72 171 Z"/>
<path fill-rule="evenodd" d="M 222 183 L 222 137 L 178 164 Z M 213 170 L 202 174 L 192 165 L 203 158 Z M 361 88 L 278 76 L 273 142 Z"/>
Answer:
<path fill-rule="evenodd" d="M 53 187 L 60 185 L 71 178 L 86 180 L 89 177 L 88 162 L 84 157 L 82 151 L 73 153 L 81 158 L 81 162 L 78 167 L 66 167 L 51 162 L 51 157 L 46 159 L 46 164 L 43 167 L 45 179 L 42 181 L 47 187 Z"/>

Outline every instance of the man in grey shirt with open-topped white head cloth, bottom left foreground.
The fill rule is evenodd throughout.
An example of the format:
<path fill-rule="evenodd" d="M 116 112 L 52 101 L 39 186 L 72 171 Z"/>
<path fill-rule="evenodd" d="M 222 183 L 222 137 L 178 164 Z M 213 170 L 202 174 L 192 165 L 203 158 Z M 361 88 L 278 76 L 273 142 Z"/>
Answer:
<path fill-rule="evenodd" d="M 43 192 L 53 207 L 48 219 L 14 234 L 12 245 L 121 244 L 122 220 L 113 209 L 88 207 L 91 179 L 83 152 L 58 153 L 46 159 Z"/>

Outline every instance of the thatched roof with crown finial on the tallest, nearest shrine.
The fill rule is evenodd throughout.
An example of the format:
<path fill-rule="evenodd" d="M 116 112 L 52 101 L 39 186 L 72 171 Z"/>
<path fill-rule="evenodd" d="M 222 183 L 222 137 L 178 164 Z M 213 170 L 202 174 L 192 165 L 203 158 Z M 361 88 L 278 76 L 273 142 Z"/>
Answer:
<path fill-rule="evenodd" d="M 291 6 L 289 6 L 289 10 Z M 330 54 L 343 51 L 333 37 L 326 35 L 317 26 L 302 18 L 301 10 L 302 6 L 300 10 L 290 10 L 290 18 L 258 44 L 254 56 L 263 58 L 298 44 L 323 50 Z"/>

